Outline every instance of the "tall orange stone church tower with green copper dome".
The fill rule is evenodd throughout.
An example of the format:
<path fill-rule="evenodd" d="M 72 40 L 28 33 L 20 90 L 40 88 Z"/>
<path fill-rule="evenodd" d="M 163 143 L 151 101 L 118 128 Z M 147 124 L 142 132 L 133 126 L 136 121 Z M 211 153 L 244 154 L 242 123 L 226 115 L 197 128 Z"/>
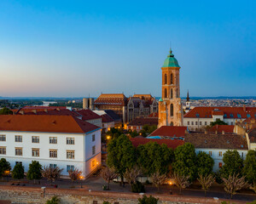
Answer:
<path fill-rule="evenodd" d="M 159 122 L 161 126 L 182 126 L 183 108 L 180 99 L 179 69 L 177 59 L 172 54 L 167 56 L 162 70 L 162 97 L 159 100 Z"/>

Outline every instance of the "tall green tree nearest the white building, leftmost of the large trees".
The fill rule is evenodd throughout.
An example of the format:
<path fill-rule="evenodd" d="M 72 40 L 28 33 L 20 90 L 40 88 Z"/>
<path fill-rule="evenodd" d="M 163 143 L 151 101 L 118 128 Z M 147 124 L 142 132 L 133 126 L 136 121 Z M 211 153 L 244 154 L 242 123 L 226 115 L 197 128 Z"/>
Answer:
<path fill-rule="evenodd" d="M 121 177 L 121 184 L 124 184 L 124 173 L 127 168 L 134 166 L 136 162 L 135 148 L 130 139 L 124 134 L 117 139 L 112 139 L 108 144 L 108 167 L 113 167 Z"/>

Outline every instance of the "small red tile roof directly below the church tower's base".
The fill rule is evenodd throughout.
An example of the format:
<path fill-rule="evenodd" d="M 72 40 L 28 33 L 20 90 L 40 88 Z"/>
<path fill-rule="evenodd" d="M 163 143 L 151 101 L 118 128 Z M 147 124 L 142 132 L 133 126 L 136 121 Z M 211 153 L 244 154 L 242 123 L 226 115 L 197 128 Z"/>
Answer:
<path fill-rule="evenodd" d="M 162 126 L 149 136 L 184 137 L 187 127 L 185 126 Z"/>

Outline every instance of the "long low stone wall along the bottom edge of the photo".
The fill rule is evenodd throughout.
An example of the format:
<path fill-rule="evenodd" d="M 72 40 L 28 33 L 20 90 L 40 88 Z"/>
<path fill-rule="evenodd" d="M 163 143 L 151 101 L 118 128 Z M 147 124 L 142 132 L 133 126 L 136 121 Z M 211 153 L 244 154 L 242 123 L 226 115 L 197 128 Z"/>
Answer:
<path fill-rule="evenodd" d="M 110 201 L 112 204 L 137 204 L 137 198 L 143 195 L 134 193 L 117 193 L 106 191 L 88 191 L 83 189 L 65 190 L 21 186 L 0 185 L 0 200 L 9 200 L 12 203 L 45 203 L 54 195 L 61 199 L 61 203 L 102 204 Z M 146 194 L 147 195 L 147 194 Z M 220 203 L 219 200 L 205 197 L 189 197 L 177 195 L 154 195 L 160 199 L 160 204 L 185 203 Z M 246 203 L 232 201 L 232 203 Z"/>

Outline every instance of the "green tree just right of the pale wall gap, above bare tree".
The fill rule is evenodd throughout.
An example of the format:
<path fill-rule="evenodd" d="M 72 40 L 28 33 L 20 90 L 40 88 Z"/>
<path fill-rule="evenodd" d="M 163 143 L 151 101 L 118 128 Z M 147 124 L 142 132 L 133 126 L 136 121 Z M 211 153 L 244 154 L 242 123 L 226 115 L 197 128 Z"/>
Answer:
<path fill-rule="evenodd" d="M 240 174 L 243 161 L 237 150 L 227 150 L 223 156 L 224 166 L 220 169 L 221 176 L 228 178 L 234 173 Z"/>

